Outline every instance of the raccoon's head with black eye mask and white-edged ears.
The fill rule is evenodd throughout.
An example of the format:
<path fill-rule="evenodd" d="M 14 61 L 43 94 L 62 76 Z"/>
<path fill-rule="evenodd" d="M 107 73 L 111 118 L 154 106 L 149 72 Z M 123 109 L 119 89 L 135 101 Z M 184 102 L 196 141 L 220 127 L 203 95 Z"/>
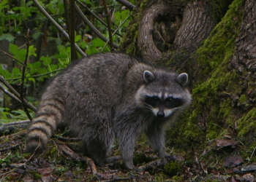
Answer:
<path fill-rule="evenodd" d="M 157 117 L 168 117 L 191 103 L 192 96 L 185 88 L 188 76 L 171 71 L 144 71 L 144 84 L 135 95 L 140 107 L 147 108 Z"/>

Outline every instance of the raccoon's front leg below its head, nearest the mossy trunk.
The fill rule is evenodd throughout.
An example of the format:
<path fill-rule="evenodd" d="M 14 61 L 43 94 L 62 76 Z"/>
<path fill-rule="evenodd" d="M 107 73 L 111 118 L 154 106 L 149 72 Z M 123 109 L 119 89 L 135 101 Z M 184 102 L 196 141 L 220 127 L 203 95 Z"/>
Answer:
<path fill-rule="evenodd" d="M 151 149 L 156 151 L 159 157 L 165 157 L 165 129 L 161 121 L 153 121 L 146 129 L 146 135 Z"/>

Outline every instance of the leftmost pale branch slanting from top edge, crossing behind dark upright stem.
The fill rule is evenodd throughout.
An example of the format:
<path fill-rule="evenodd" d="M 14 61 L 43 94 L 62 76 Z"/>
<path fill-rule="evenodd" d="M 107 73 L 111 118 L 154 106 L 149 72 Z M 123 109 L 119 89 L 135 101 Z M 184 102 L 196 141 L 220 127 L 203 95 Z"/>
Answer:
<path fill-rule="evenodd" d="M 45 15 L 45 17 L 47 17 L 47 19 L 50 21 L 50 23 L 53 23 L 53 25 L 59 31 L 61 31 L 61 33 L 63 33 L 63 35 L 69 40 L 69 35 L 67 34 L 67 32 L 64 31 L 63 28 L 58 23 L 56 23 L 56 21 L 53 20 L 52 17 L 50 17 L 48 12 L 45 11 L 45 9 L 39 4 L 39 2 L 37 0 L 33 0 L 33 1 L 34 1 L 34 4 L 36 4 L 36 6 L 38 7 L 38 9 L 42 12 L 42 14 Z M 83 50 L 81 50 L 80 47 L 78 47 L 78 44 L 75 44 L 75 48 L 78 50 L 80 55 L 82 55 L 83 57 L 86 57 L 86 53 L 84 53 Z"/>

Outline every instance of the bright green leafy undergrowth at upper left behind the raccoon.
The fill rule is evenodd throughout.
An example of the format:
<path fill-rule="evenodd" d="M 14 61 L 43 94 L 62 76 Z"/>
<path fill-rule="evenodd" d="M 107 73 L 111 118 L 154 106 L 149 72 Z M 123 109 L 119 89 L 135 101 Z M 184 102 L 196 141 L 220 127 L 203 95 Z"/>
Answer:
<path fill-rule="evenodd" d="M 84 4 L 90 7 L 91 11 L 96 15 L 103 14 L 104 7 L 99 6 L 99 1 L 81 0 Z M 67 28 L 67 20 L 64 12 L 64 3 L 59 0 L 53 1 L 39 1 L 42 7 L 53 17 L 53 19 L 61 25 L 64 29 Z M 129 24 L 130 17 L 129 10 L 121 10 L 121 4 L 116 1 L 108 1 L 108 7 L 112 9 L 113 14 L 113 29 L 118 28 L 117 32 L 123 34 Z M 85 12 L 83 7 L 80 7 Z M 99 20 L 90 17 L 86 17 L 89 20 L 93 20 L 93 24 L 102 34 L 108 38 L 108 28 Z M 29 100 L 36 100 L 34 98 L 34 90 L 41 82 L 45 82 L 49 76 L 54 76 L 63 68 L 66 68 L 71 62 L 71 49 L 69 41 L 63 39 L 57 28 L 51 23 L 44 30 L 46 18 L 39 9 L 34 5 L 33 1 L 0 1 L 0 41 L 9 41 L 9 52 L 15 61 L 14 68 L 6 68 L 0 64 L 0 75 L 4 76 L 12 85 L 20 85 L 22 81 L 22 73 L 26 56 L 28 56 L 28 63 L 26 65 L 24 89 L 29 89 L 30 95 L 26 95 Z M 104 15 L 102 15 L 104 17 Z M 104 17 L 105 20 L 105 17 Z M 105 21 L 106 22 L 106 21 Z M 97 52 L 109 52 L 110 47 L 101 39 L 94 36 L 94 33 L 90 28 L 86 27 L 82 21 L 78 20 L 78 28 L 76 28 L 75 43 L 86 52 L 87 55 L 91 55 Z M 42 55 L 39 60 L 33 61 L 37 57 L 37 48 L 34 45 L 29 46 L 29 52 L 26 47 L 18 47 L 15 44 L 16 36 L 26 36 L 28 29 L 29 41 L 35 42 L 39 39 L 44 39 L 43 46 L 48 46 L 48 41 L 55 41 L 56 53 L 53 55 Z M 65 30 L 67 31 L 67 29 Z M 91 36 L 92 39 L 85 41 L 85 33 Z M 121 41 L 121 37 L 116 34 L 113 36 L 113 41 L 118 44 Z M 80 58 L 81 56 L 78 55 Z M 18 111 L 11 111 L 9 109 L 10 103 L 7 103 L 7 107 L 0 108 L 0 119 L 3 122 L 13 121 L 15 119 L 27 119 L 24 113 Z"/>

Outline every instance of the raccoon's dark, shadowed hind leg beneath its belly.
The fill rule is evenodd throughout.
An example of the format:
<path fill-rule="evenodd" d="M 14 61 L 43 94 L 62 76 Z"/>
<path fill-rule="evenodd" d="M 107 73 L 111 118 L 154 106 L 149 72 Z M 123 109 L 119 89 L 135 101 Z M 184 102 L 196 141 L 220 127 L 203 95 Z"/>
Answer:
<path fill-rule="evenodd" d="M 94 159 L 96 165 L 103 167 L 104 161 L 110 153 L 114 141 L 112 130 L 102 124 L 101 128 L 87 128 L 91 135 L 83 137 L 83 146 L 85 155 Z"/>

